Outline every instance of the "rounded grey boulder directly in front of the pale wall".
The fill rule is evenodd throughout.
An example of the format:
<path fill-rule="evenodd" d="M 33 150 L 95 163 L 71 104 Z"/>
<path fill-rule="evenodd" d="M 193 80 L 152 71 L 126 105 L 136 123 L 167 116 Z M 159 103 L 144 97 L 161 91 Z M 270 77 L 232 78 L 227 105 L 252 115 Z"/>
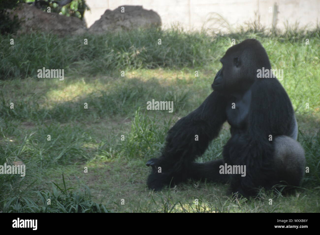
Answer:
<path fill-rule="evenodd" d="M 124 13 L 121 12 L 122 7 L 124 7 Z M 100 20 L 94 22 L 89 28 L 89 32 L 99 34 L 121 29 L 130 30 L 160 26 L 161 18 L 158 13 L 143 9 L 142 6 L 123 5 L 113 11 L 106 10 Z"/>

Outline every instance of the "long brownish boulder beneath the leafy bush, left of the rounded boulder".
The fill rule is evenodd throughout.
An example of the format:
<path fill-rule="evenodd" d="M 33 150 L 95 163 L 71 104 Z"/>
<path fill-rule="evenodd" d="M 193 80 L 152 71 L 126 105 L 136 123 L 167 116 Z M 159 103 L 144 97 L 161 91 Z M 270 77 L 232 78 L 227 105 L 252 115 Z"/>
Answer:
<path fill-rule="evenodd" d="M 43 12 L 32 5 L 22 3 L 14 11 L 20 23 L 17 34 L 30 33 L 32 31 L 48 32 L 58 36 L 76 35 L 87 30 L 85 22 L 77 17 L 67 17 L 58 13 Z"/>

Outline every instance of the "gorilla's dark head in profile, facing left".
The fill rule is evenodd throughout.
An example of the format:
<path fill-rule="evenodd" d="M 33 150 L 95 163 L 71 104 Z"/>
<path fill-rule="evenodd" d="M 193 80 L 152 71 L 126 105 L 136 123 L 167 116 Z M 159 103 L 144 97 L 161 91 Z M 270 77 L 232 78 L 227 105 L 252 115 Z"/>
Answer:
<path fill-rule="evenodd" d="M 265 49 L 255 39 L 246 39 L 230 47 L 220 62 L 222 68 L 214 78 L 212 88 L 226 94 L 248 90 L 257 78 L 257 69 L 271 69 Z"/>

